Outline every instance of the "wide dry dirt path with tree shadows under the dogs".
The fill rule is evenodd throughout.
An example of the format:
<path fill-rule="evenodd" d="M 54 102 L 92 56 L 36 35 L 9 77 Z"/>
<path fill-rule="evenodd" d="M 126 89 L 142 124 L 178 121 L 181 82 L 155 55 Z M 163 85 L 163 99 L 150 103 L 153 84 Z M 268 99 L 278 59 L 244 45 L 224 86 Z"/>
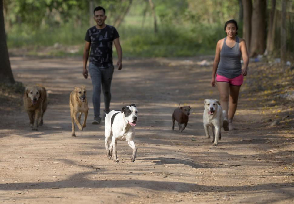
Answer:
<path fill-rule="evenodd" d="M 119 141 L 114 163 L 105 156 L 104 125 L 91 124 L 92 85 L 82 77 L 82 60 L 12 57 L 15 79 L 42 83 L 50 95 L 38 131 L 23 110 L 2 115 L 0 202 L 293 203 L 293 138 L 254 122 L 260 116 L 242 98 L 238 130 L 222 131 L 217 147 L 205 138 L 203 99 L 218 98 L 218 92 L 209 86 L 211 67 L 199 60 L 124 60 L 123 70 L 115 70 L 111 109 L 135 103 L 139 121 L 135 162 Z M 82 84 L 89 116 L 74 138 L 68 98 Z M 179 102 L 192 107 L 183 133 L 171 130 Z"/>

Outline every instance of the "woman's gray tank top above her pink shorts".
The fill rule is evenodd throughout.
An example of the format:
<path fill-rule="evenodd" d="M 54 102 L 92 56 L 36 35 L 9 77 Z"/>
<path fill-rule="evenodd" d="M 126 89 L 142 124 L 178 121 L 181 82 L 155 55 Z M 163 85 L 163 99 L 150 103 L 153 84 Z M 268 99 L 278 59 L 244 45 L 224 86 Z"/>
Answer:
<path fill-rule="evenodd" d="M 236 43 L 232 48 L 226 45 L 226 39 L 227 37 L 225 37 L 222 45 L 216 73 L 232 79 L 238 77 L 242 73 L 239 38 L 236 36 Z"/>

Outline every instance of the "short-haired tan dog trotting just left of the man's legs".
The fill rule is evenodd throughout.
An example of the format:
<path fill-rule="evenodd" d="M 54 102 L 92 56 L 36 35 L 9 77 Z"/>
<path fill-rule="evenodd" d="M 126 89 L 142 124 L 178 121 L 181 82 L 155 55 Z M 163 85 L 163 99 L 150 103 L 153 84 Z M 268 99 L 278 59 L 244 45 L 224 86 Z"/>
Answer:
<path fill-rule="evenodd" d="M 75 87 L 75 90 L 70 93 L 69 97 L 70 117 L 72 118 L 72 136 L 75 137 L 75 124 L 77 124 L 79 130 L 83 130 L 86 127 L 86 120 L 88 116 L 88 101 L 87 91 L 84 85 L 81 88 Z M 77 119 L 77 113 L 79 117 Z M 84 122 L 81 125 L 81 115 L 85 114 Z M 74 123 L 75 122 L 75 123 Z"/>

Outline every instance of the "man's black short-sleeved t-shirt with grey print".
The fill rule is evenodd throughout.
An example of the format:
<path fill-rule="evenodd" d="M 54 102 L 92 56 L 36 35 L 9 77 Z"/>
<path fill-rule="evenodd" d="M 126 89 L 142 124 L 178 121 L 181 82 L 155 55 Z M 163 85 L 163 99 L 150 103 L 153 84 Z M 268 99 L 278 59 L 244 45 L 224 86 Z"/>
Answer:
<path fill-rule="evenodd" d="M 111 25 L 103 29 L 89 28 L 85 41 L 91 42 L 90 63 L 102 69 L 112 66 L 112 41 L 117 38 L 119 33 Z"/>

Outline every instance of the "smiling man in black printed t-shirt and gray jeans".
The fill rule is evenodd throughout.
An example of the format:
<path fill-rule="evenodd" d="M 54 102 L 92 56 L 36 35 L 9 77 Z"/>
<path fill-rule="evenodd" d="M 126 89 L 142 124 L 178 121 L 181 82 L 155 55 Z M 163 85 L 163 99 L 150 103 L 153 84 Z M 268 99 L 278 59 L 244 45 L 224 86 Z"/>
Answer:
<path fill-rule="evenodd" d="M 112 42 L 114 42 L 118 61 L 116 63 L 118 70 L 122 69 L 122 47 L 119 42 L 119 34 L 115 27 L 106 25 L 105 9 L 98 6 L 94 9 L 94 20 L 97 25 L 89 28 L 85 36 L 85 48 L 83 52 L 83 76 L 88 78 L 87 61 L 90 52 L 89 73 L 93 85 L 93 107 L 94 120 L 92 124 L 100 124 L 100 94 L 101 86 L 104 95 L 104 114 L 109 113 L 111 100 L 110 86 L 114 66 L 112 63 Z"/>

